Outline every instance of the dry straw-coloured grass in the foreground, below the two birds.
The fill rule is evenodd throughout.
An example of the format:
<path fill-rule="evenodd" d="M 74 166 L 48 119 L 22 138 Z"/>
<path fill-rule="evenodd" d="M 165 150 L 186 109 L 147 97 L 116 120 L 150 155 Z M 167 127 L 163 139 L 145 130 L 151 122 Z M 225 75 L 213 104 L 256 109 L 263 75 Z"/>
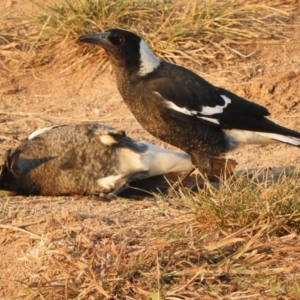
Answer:
<path fill-rule="evenodd" d="M 118 200 L 105 216 L 57 214 L 45 236 L 28 232 L 18 299 L 299 299 L 299 199 L 297 178 L 241 177 L 181 199 Z"/>

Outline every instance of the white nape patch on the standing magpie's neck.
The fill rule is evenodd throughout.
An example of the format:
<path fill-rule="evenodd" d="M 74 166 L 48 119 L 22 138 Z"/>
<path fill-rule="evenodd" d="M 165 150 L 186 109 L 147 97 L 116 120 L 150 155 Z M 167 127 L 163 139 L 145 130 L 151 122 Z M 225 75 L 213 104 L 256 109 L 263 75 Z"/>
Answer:
<path fill-rule="evenodd" d="M 138 72 L 139 76 L 146 76 L 153 72 L 160 64 L 160 60 L 154 55 L 147 44 L 140 41 L 140 69 Z"/>

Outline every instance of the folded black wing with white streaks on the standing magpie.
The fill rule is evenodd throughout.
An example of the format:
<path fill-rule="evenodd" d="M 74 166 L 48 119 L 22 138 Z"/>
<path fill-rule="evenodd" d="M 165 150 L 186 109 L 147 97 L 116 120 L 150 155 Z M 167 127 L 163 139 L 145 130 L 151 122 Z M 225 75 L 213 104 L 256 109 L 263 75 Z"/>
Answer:
<path fill-rule="evenodd" d="M 224 129 L 256 130 L 257 120 L 270 115 L 263 106 L 183 70 L 177 76 L 153 78 L 147 84 L 148 92 L 160 97 L 170 113 L 181 121 L 201 122 Z"/>

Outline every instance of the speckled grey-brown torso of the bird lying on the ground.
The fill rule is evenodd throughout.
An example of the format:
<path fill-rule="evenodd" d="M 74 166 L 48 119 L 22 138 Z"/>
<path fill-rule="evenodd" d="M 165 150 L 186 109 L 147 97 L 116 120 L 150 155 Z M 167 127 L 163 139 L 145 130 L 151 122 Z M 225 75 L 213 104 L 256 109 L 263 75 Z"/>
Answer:
<path fill-rule="evenodd" d="M 22 194 L 99 192 L 97 179 L 114 173 L 116 154 L 99 140 L 102 125 L 68 125 L 24 141 L 12 154 L 12 172 Z"/>

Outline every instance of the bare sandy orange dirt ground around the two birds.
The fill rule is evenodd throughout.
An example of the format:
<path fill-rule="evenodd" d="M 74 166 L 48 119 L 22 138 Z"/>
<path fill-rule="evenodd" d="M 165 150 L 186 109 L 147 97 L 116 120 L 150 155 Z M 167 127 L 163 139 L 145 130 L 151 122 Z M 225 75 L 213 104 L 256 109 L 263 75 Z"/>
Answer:
<path fill-rule="evenodd" d="M 5 5 L 11 3 L 7 1 Z M 222 62 L 220 68 L 203 69 L 199 74 L 266 106 L 272 120 L 300 131 L 300 17 L 289 31 L 290 44 L 253 45 L 249 49 L 255 52 L 251 58 L 235 64 Z M 298 44 L 292 43 L 296 40 Z M 1 151 L 17 146 L 39 127 L 83 121 L 125 129 L 136 139 L 170 148 L 141 128 L 123 103 L 114 75 L 110 71 L 100 74 L 96 65 L 69 71 L 51 64 L 33 69 L 26 77 L 1 87 Z M 238 169 L 286 165 L 300 168 L 299 149 L 283 144 L 241 146 L 228 156 L 238 161 Z M 125 200 L 101 203 L 79 196 L 2 196 L 0 202 L 1 224 L 13 226 L 3 226 L 0 231 L 0 299 L 24 295 L 21 283 L 34 276 L 28 259 L 42 255 L 34 252 L 40 237 L 62 227 L 80 227 L 83 223 L 91 227 L 108 226 L 110 230 L 109 219 L 121 220 L 119 227 L 122 227 L 130 221 L 126 217 L 128 210 L 136 210 L 136 218 L 143 219 L 148 226 L 156 209 L 150 199 L 138 203 Z M 13 228 L 26 229 L 26 232 Z"/>

